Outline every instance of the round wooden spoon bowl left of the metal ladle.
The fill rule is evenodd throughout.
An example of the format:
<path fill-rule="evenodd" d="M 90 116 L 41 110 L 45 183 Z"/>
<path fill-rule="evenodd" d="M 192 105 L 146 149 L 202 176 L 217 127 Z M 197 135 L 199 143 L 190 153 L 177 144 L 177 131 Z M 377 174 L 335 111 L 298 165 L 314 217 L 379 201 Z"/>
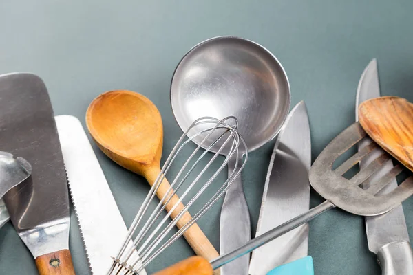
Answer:
<path fill-rule="evenodd" d="M 89 105 L 86 123 L 98 147 L 114 162 L 144 177 L 160 166 L 162 118 L 133 91 L 107 91 Z"/>

